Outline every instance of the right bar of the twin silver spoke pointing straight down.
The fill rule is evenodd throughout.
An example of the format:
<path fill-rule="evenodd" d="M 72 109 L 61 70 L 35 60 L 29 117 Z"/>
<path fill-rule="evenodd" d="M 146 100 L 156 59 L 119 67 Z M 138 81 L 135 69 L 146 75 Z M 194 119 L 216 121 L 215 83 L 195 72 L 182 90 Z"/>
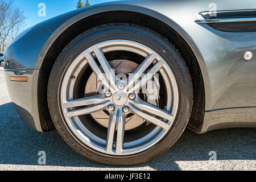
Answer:
<path fill-rule="evenodd" d="M 125 136 L 125 115 L 123 115 L 122 109 L 119 109 L 118 124 L 117 124 L 117 145 L 115 147 L 116 154 L 122 154 L 124 136 Z"/>

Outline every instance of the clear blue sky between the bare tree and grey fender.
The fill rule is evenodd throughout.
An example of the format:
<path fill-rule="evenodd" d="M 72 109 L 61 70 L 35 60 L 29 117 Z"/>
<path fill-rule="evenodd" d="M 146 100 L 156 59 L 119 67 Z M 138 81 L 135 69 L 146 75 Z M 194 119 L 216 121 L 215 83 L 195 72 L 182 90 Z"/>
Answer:
<path fill-rule="evenodd" d="M 27 17 L 26 26 L 23 28 L 26 29 L 36 23 L 43 22 L 46 19 L 75 10 L 77 1 L 78 0 L 14 0 L 14 5 L 20 7 Z M 109 1 L 110 0 L 89 0 L 91 5 Z M 82 2 L 86 1 L 82 0 Z M 46 4 L 46 17 L 38 16 L 39 3 Z"/>

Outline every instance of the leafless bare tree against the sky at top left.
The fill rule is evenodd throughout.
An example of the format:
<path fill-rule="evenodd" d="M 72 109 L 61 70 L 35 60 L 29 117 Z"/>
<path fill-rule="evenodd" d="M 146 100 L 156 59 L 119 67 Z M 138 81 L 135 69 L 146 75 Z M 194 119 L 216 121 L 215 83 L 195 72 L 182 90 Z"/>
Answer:
<path fill-rule="evenodd" d="M 24 12 L 13 5 L 13 0 L 0 0 L 0 52 L 18 35 L 25 19 Z"/>

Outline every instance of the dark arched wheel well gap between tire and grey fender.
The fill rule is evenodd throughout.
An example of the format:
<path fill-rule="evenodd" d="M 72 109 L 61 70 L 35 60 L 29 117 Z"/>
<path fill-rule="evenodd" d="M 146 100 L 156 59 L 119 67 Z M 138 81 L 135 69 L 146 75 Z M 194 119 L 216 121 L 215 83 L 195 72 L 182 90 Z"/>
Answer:
<path fill-rule="evenodd" d="M 180 34 L 161 20 L 145 14 L 131 11 L 108 11 L 91 15 L 81 19 L 79 22 L 72 24 L 59 36 L 59 38 L 55 40 L 55 42 L 49 48 L 40 69 L 38 88 L 47 88 L 48 78 L 53 64 L 61 51 L 69 42 L 71 42 L 71 40 L 75 39 L 76 36 L 82 34 L 82 32 L 89 30 L 90 28 L 101 26 L 102 24 L 119 22 L 133 23 L 150 28 L 151 30 L 158 32 L 158 34 L 164 36 L 164 38 L 168 39 L 168 41 L 179 50 L 189 68 L 189 72 L 191 73 L 194 88 L 194 104 L 191 119 L 189 121 L 189 127 L 199 132 L 203 126 L 205 111 L 204 80 L 199 63 L 197 62 L 192 49 L 180 36 Z M 38 89 L 38 105 L 40 122 L 43 131 L 48 132 L 54 130 L 55 127 L 49 114 L 46 90 Z"/>

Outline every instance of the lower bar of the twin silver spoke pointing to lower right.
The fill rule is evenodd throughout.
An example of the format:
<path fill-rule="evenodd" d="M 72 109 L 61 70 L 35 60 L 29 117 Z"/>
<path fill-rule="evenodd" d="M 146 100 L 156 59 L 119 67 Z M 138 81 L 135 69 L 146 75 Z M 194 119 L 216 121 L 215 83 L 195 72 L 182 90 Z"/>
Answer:
<path fill-rule="evenodd" d="M 170 128 L 170 126 L 167 123 L 164 123 L 160 119 L 156 119 L 156 118 L 152 117 L 151 115 L 143 113 L 142 111 L 136 109 L 133 105 L 129 105 L 129 106 L 130 106 L 131 110 L 133 110 L 134 114 L 137 114 L 139 117 L 146 119 L 148 122 L 151 122 L 154 125 L 159 126 L 164 130 L 168 130 Z"/>

